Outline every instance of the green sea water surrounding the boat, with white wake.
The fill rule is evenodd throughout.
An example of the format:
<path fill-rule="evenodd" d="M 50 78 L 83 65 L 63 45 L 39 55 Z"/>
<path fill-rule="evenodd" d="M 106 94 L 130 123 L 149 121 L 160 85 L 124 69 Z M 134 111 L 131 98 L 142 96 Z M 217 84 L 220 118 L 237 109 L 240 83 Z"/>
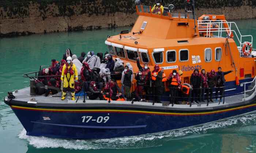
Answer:
<path fill-rule="evenodd" d="M 256 19 L 236 20 L 242 35 L 256 38 Z M 0 38 L 0 153 L 244 153 L 256 152 L 256 113 L 239 115 L 167 132 L 103 140 L 64 140 L 26 136 L 26 131 L 3 99 L 7 91 L 29 87 L 21 75 L 38 71 L 51 59 L 61 60 L 67 48 L 73 54 L 105 52 L 112 30 L 60 32 Z M 256 39 L 253 44 L 256 44 Z M 254 47 L 256 48 L 256 47 Z"/>

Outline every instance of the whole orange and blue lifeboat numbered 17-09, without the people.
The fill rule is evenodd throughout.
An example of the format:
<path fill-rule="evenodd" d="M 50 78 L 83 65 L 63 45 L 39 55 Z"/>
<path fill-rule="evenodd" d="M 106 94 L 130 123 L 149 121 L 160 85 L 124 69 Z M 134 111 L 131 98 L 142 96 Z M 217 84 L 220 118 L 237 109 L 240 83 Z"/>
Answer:
<path fill-rule="evenodd" d="M 191 4 L 188 1 L 185 3 L 186 6 Z M 133 72 L 138 72 L 136 60 L 139 59 L 140 66 L 148 64 L 152 71 L 158 65 L 166 76 L 173 70 L 182 71 L 182 83 L 190 83 L 195 69 L 204 69 L 206 72 L 212 69 L 217 72 L 218 67 L 222 67 L 225 72 L 233 70 L 234 72 L 225 75 L 226 83 L 222 86 L 223 101 L 217 99 L 218 102 L 189 105 L 170 103 L 168 81 L 162 83 L 165 92 L 161 95 L 161 103 L 153 101 L 155 94 L 151 83 L 147 85 L 148 89 L 153 90 L 148 92 L 149 102 L 134 101 L 133 98 L 131 101 L 110 101 L 110 98 L 107 101 L 90 100 L 85 95 L 75 96 L 76 100 L 73 101 L 68 98 L 71 97 L 69 93 L 62 101 L 61 91 L 52 97 L 36 93 L 34 83 L 38 77 L 37 72 L 34 76 L 34 73 L 27 73 L 23 76 L 31 79 L 30 87 L 14 93 L 9 91 L 4 97 L 4 102 L 11 107 L 26 129 L 26 134 L 67 139 L 137 136 L 200 125 L 255 111 L 255 58 L 241 57 L 237 47 L 242 46 L 242 40 L 237 40 L 236 43 L 230 37 L 230 25 L 234 23 L 227 22 L 224 15 L 207 15 L 215 23 L 202 25 L 202 16 L 196 20 L 195 16 L 187 14 L 189 11 L 178 14 L 171 12 L 174 7 L 169 6 L 169 12 L 163 14 L 160 9 L 160 14 L 154 14 L 153 7 L 136 5 L 138 19 L 132 30 L 108 36 L 102 45 L 106 45 L 113 58 L 120 58 L 124 63 L 129 62 Z M 216 26 L 222 23 L 225 24 L 223 28 Z M 205 37 L 200 35 L 203 28 L 220 28 L 228 36 L 225 38 L 221 32 L 215 32 L 216 35 Z M 242 38 L 251 38 L 252 42 L 251 35 L 247 38 L 241 36 Z M 121 81 L 116 83 L 121 86 Z M 50 87 L 42 85 L 40 88 Z M 132 85 L 131 90 L 134 91 L 135 86 Z M 132 97 L 133 95 L 134 93 Z"/>

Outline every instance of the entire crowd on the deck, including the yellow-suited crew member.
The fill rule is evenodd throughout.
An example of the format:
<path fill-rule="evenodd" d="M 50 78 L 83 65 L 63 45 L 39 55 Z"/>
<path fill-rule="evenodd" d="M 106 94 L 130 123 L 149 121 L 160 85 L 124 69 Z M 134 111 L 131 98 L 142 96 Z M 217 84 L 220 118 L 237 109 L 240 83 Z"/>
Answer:
<path fill-rule="evenodd" d="M 44 83 L 44 85 L 54 87 L 60 87 L 62 85 L 62 100 L 65 99 L 68 90 L 71 92 L 72 100 L 75 100 L 75 93 L 81 91 L 81 85 L 83 85 L 83 90 L 87 92 L 91 100 L 96 98 L 100 100 L 107 100 L 106 98 L 117 100 L 118 98 L 126 97 L 127 101 L 131 101 L 132 98 L 135 98 L 133 99 L 134 101 L 148 102 L 150 96 L 154 95 L 153 102 L 155 103 L 161 103 L 160 97 L 165 93 L 165 82 L 168 81 L 170 103 L 179 104 L 178 97 L 182 95 L 182 104 L 185 103 L 185 97 L 188 97 L 187 104 L 189 104 L 189 102 L 193 102 L 194 99 L 196 103 L 205 102 L 205 91 L 207 93 L 207 101 L 213 102 L 213 88 L 216 88 L 215 101 L 217 101 L 218 91 L 220 91 L 220 101 L 222 101 L 225 83 L 224 75 L 233 71 L 222 72 L 221 67 L 219 67 L 216 73 L 215 70 L 206 73 L 204 69 L 202 69 L 200 73 L 198 69 L 195 69 L 191 75 L 190 84 L 181 84 L 182 71 L 180 70 L 178 72 L 173 70 L 169 74 L 169 77 L 166 77 L 163 68 L 155 65 L 154 70 L 151 72 L 148 64 L 144 64 L 142 67 L 139 58 L 137 58 L 136 62 L 139 71 L 133 72 L 133 67 L 130 63 L 125 64 L 120 58 L 113 60 L 112 55 L 108 54 L 108 52 L 105 52 L 105 57 L 103 57 L 103 53 L 101 52 L 94 55 L 93 51 L 89 51 L 86 57 L 85 55 L 86 53 L 82 52 L 81 56 L 77 58 L 76 55 L 72 54 L 70 49 L 67 49 L 63 54 L 61 63 L 52 59 L 51 67 L 39 71 L 38 76 L 46 77 L 38 78 L 37 81 Z M 61 75 L 61 77 L 56 75 Z M 131 87 L 133 79 L 136 80 L 136 86 L 132 93 Z M 120 80 L 122 83 L 121 89 L 117 85 L 117 80 Z M 143 90 L 146 93 L 144 95 Z M 47 96 L 50 91 L 52 94 L 57 93 L 54 89 L 48 89 L 45 96 Z"/>

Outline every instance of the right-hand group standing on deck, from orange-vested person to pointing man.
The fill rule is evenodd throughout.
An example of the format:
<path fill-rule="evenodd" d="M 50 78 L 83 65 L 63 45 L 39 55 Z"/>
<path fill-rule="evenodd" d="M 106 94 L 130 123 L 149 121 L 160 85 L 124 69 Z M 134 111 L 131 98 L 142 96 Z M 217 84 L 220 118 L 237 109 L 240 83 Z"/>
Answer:
<path fill-rule="evenodd" d="M 196 68 L 193 73 L 191 74 L 190 84 L 188 83 L 181 83 L 180 75 L 176 74 L 177 71 L 173 70 L 173 72 L 169 76 L 170 82 L 170 103 L 178 104 L 177 97 L 178 93 L 182 93 L 187 97 L 187 105 L 189 102 L 193 103 L 194 99 L 197 104 L 199 102 L 204 101 L 204 94 L 206 91 L 206 99 L 207 102 L 214 102 L 212 100 L 212 90 L 215 88 L 215 102 L 218 102 L 218 92 L 220 91 L 219 98 L 220 101 L 222 100 L 223 94 L 223 87 L 225 83 L 224 75 L 229 74 L 231 71 L 223 72 L 221 71 L 221 67 L 218 67 L 218 71 L 211 70 L 207 72 L 202 69 L 201 73 Z M 183 98 L 182 104 L 186 103 L 185 98 Z"/>

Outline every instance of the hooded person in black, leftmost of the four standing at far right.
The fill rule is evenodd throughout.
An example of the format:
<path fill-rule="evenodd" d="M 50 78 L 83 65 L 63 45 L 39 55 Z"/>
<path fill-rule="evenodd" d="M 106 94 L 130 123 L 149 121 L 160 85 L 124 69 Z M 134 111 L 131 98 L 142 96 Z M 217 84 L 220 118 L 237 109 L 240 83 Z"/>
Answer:
<path fill-rule="evenodd" d="M 194 72 L 191 74 L 190 85 L 193 88 L 192 90 L 192 98 L 191 103 L 193 103 L 193 99 L 195 98 L 195 102 L 199 104 L 199 89 L 202 88 L 202 75 L 199 73 L 199 70 L 196 68 Z"/>

